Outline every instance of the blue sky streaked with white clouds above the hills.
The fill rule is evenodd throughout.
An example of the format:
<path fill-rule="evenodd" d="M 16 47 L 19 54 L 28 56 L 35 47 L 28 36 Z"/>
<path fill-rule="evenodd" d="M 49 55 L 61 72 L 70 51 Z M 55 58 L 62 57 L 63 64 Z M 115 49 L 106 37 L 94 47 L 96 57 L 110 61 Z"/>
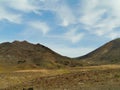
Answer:
<path fill-rule="evenodd" d="M 0 0 L 0 43 L 27 40 L 69 57 L 120 37 L 120 0 Z"/>

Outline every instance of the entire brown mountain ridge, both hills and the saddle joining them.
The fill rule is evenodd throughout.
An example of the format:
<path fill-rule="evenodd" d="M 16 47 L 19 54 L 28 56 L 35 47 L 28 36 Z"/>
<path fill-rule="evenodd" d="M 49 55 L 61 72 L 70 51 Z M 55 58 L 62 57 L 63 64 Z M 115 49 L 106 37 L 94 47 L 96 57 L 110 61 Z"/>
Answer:
<path fill-rule="evenodd" d="M 0 70 L 10 69 L 11 67 L 13 69 L 55 69 L 119 63 L 120 38 L 78 58 L 62 56 L 41 44 L 32 44 L 27 41 L 0 44 Z"/>

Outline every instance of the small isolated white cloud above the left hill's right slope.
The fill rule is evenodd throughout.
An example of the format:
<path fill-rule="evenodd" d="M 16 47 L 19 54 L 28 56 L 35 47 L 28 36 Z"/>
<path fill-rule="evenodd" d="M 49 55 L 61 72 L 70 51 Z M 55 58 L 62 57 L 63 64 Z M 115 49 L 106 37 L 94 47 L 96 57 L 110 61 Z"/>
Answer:
<path fill-rule="evenodd" d="M 32 21 L 28 23 L 28 27 L 33 29 L 33 32 L 36 31 L 40 31 L 42 32 L 44 35 L 47 34 L 50 30 L 50 27 L 47 25 L 47 23 L 45 22 L 40 22 L 40 21 Z"/>

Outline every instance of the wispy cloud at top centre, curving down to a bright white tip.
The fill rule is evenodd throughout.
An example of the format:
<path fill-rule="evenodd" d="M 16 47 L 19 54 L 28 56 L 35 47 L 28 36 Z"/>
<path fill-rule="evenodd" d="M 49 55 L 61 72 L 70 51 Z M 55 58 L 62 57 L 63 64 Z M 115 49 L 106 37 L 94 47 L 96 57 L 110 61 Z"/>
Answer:
<path fill-rule="evenodd" d="M 63 27 L 76 23 L 72 8 L 63 0 L 44 0 L 41 2 L 40 9 L 53 12 L 57 23 Z"/>

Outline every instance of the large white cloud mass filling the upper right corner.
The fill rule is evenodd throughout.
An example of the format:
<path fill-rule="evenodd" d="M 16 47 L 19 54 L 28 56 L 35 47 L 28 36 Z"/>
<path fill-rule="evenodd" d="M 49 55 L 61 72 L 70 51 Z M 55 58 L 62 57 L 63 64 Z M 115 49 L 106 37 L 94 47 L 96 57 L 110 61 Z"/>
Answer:
<path fill-rule="evenodd" d="M 97 36 L 119 37 L 120 1 L 119 0 L 82 0 L 80 22 L 84 28 Z"/>

